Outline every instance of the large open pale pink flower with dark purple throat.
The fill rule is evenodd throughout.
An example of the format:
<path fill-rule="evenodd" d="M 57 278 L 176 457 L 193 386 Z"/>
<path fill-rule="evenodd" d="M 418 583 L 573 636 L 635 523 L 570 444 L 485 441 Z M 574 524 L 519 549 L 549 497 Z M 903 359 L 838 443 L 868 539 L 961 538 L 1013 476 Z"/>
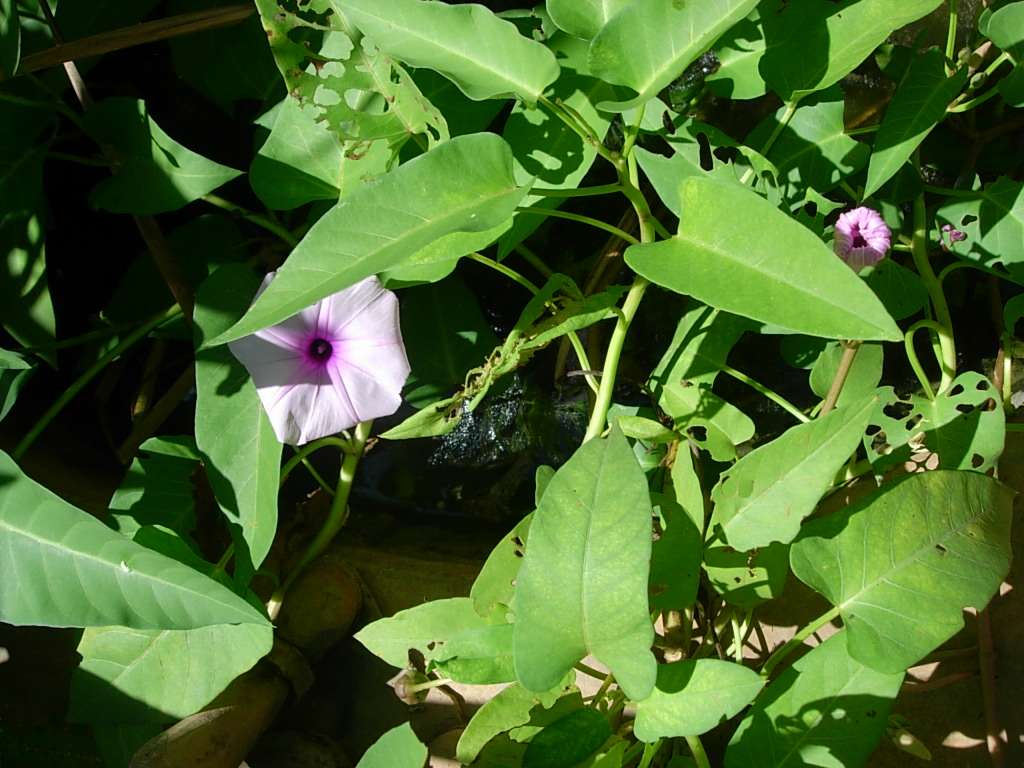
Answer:
<path fill-rule="evenodd" d="M 398 299 L 377 278 L 228 348 L 252 376 L 278 439 L 290 445 L 393 414 L 409 376 Z"/>

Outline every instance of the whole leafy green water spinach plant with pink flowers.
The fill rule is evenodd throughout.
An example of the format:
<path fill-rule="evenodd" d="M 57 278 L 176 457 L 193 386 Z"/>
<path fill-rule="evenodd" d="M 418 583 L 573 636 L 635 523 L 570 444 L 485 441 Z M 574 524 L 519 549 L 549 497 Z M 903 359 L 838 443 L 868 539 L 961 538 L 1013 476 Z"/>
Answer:
<path fill-rule="evenodd" d="M 899 730 L 905 671 L 1010 567 L 1013 493 L 995 474 L 1024 315 L 1008 150 L 1024 2 L 256 0 L 255 50 L 275 66 L 247 179 L 263 211 L 215 195 L 241 172 L 171 138 L 144 99 L 94 101 L 73 60 L 73 88 L 32 74 L 32 45 L 75 22 L 67 5 L 0 2 L 0 237 L 19 292 L 0 413 L 65 343 L 24 330 L 47 311 L 52 327 L 54 126 L 93 142 L 112 173 L 92 205 L 135 217 L 167 287 L 127 330 L 108 313 L 91 338 L 113 341 L 0 456 L 0 620 L 86 628 L 77 674 L 154 723 L 189 716 L 270 651 L 368 445 L 441 439 L 553 366 L 579 384 L 585 426 L 537 470 L 535 509 L 468 595 L 356 639 L 406 670 L 413 698 L 507 684 L 463 730 L 463 765 L 869 764 Z M 171 211 L 184 250 L 160 232 Z M 493 348 L 475 343 L 494 329 L 467 268 L 521 297 Z M 966 353 L 954 315 L 972 339 L 989 322 L 979 285 L 997 328 Z M 631 356 L 649 342 L 638 329 L 664 340 L 652 357 Z M 153 436 L 142 409 L 96 519 L 19 462 L 153 338 L 190 340 L 195 430 Z M 740 347 L 780 350 L 797 393 L 765 383 L 770 366 L 730 366 Z M 730 401 L 737 387 L 756 409 Z M 342 458 L 336 482 L 312 470 L 333 495 L 323 527 L 271 563 L 279 488 L 325 451 Z M 230 532 L 219 561 L 193 537 L 197 471 Z M 140 486 L 182 483 L 139 504 Z M 761 611 L 784 613 L 797 582 L 819 614 L 766 637 Z M 201 679 L 182 690 L 186 669 Z M 94 689 L 73 683 L 85 722 Z M 359 766 L 426 759 L 407 725 Z"/>

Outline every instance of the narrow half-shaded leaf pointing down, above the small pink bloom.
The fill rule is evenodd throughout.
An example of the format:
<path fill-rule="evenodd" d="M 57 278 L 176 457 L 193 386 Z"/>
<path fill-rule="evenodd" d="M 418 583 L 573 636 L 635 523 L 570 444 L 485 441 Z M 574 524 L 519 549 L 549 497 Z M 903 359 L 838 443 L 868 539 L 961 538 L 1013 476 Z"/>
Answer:
<path fill-rule="evenodd" d="M 942 122 L 949 102 L 967 82 L 967 68 L 962 67 L 946 77 L 945 55 L 938 48 L 930 48 L 910 60 L 874 138 L 863 197 L 870 197 L 895 176 Z"/>

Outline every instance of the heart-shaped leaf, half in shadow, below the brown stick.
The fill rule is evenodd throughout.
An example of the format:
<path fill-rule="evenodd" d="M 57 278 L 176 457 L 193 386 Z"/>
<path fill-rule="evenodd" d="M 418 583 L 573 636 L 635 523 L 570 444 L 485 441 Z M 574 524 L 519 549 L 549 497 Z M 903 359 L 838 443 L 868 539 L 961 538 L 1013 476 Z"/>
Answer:
<path fill-rule="evenodd" d="M 114 213 L 174 211 L 241 172 L 182 146 L 150 117 L 145 102 L 108 98 L 86 115 L 89 134 L 113 147 L 115 175 L 92 190 L 93 205 Z"/>

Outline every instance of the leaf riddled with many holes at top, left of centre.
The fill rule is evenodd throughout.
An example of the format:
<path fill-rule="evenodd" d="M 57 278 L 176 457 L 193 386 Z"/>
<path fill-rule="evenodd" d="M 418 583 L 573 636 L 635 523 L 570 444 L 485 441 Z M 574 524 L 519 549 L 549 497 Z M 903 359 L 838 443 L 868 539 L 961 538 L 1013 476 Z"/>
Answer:
<path fill-rule="evenodd" d="M 257 0 L 256 7 L 289 94 L 339 138 L 384 142 L 389 156 L 412 136 L 431 146 L 447 138 L 444 118 L 410 74 L 365 39 L 335 0 L 308 7 Z"/>

